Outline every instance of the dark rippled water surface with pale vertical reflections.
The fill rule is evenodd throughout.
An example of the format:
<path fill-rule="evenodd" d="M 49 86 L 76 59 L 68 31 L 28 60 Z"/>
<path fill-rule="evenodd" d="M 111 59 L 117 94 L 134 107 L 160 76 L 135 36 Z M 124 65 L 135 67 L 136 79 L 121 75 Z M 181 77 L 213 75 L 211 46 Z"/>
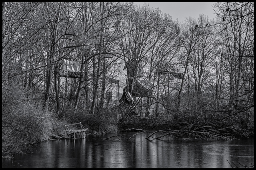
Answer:
<path fill-rule="evenodd" d="M 254 165 L 254 138 L 148 141 L 145 138 L 150 133 L 142 133 L 130 140 L 103 139 L 118 134 L 40 143 L 36 153 L 2 158 L 2 168 L 231 168 L 232 162 L 238 167 Z"/>

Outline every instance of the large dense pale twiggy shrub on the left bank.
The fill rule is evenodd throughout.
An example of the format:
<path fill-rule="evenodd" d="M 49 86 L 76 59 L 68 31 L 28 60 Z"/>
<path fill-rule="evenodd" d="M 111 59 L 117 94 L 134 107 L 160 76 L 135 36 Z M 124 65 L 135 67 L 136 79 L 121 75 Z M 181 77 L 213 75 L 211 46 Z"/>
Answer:
<path fill-rule="evenodd" d="M 22 88 L 2 89 L 2 156 L 32 152 L 50 138 L 52 115 Z"/>

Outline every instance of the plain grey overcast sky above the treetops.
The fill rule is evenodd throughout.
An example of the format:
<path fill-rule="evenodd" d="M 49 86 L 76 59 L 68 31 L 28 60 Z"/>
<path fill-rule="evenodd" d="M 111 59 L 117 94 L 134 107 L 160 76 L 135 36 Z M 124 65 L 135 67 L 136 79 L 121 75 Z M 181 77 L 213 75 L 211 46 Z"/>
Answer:
<path fill-rule="evenodd" d="M 214 19 L 213 2 L 134 2 L 142 6 L 144 3 L 149 4 L 150 7 L 159 8 L 162 13 L 168 13 L 172 19 L 180 23 L 184 22 L 185 18 L 192 17 L 197 19 L 200 14 L 208 16 L 210 20 Z"/>

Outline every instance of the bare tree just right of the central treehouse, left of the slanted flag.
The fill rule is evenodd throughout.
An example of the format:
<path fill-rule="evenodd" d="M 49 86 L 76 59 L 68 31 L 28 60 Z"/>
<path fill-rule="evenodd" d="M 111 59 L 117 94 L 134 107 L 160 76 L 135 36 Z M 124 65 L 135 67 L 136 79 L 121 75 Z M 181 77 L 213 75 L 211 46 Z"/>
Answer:
<path fill-rule="evenodd" d="M 175 63 L 175 57 L 178 55 L 180 47 L 178 45 L 178 33 L 180 31 L 178 23 L 174 22 L 168 14 L 161 14 L 159 10 L 156 10 L 156 15 L 158 15 L 158 20 L 156 23 L 159 25 L 155 29 L 155 32 L 152 34 L 152 39 L 150 41 L 150 80 L 156 84 L 155 91 L 155 101 L 156 101 L 156 115 L 158 114 L 158 104 L 161 104 L 163 107 L 164 102 L 159 99 L 159 95 L 166 89 L 170 89 L 170 86 L 164 86 L 164 80 L 167 78 L 167 82 L 173 78 L 172 75 L 162 75 L 160 73 L 163 71 L 167 72 L 176 72 L 175 67 L 172 67 Z M 168 84 L 170 85 L 170 84 Z M 169 92 L 167 95 L 169 96 Z M 149 101 L 149 99 L 148 99 Z M 152 100 L 151 100 L 152 102 Z M 152 103 L 148 102 L 148 106 Z M 148 107 L 149 108 L 149 107 Z M 149 110 L 147 114 L 149 113 Z"/>

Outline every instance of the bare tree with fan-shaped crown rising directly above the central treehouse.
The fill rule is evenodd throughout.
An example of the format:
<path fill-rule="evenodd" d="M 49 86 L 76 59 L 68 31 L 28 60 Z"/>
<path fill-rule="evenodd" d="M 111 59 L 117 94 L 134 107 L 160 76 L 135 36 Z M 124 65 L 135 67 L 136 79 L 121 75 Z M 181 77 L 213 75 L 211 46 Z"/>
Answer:
<path fill-rule="evenodd" d="M 120 51 L 124 56 L 126 74 L 125 91 L 129 92 L 135 100 L 136 105 L 144 96 L 141 90 L 138 90 L 137 80 L 148 80 L 148 75 L 142 75 L 142 67 L 146 63 L 147 53 L 150 51 L 149 42 L 152 39 L 154 29 L 156 28 L 156 18 L 153 10 L 148 6 L 138 8 L 133 6 L 123 20 L 122 28 L 118 30 L 120 37 Z"/>

